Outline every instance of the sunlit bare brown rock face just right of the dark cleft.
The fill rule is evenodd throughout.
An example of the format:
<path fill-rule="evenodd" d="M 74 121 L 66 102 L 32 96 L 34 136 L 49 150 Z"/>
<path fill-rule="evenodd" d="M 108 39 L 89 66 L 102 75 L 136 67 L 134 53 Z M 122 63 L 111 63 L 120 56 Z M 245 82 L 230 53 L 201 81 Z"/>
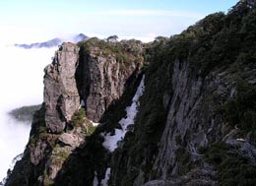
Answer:
<path fill-rule="evenodd" d="M 90 91 L 87 96 L 83 96 L 87 115 L 90 119 L 98 122 L 102 114 L 108 108 L 109 104 L 118 99 L 124 92 L 125 82 L 131 76 L 131 72 L 137 70 L 134 62 L 130 62 L 126 66 L 126 70 L 121 69 L 120 63 L 115 59 L 115 56 L 108 58 L 98 56 L 96 48 L 90 53 L 90 56 L 85 66 L 85 72 L 88 74 L 85 77 L 84 87 L 89 87 Z"/>

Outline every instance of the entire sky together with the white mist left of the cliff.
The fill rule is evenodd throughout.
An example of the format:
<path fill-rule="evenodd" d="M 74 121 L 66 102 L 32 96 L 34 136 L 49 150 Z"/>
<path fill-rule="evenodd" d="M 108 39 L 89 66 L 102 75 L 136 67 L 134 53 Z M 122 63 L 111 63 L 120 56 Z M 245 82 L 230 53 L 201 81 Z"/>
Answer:
<path fill-rule="evenodd" d="M 12 158 L 23 152 L 30 133 L 30 127 L 16 125 L 7 112 L 42 101 L 43 68 L 57 49 L 5 46 L 65 38 L 80 32 L 100 38 L 117 34 L 119 38 L 150 41 L 159 35 L 179 33 L 211 13 L 226 12 L 236 2 L 0 0 L 0 181 Z"/>

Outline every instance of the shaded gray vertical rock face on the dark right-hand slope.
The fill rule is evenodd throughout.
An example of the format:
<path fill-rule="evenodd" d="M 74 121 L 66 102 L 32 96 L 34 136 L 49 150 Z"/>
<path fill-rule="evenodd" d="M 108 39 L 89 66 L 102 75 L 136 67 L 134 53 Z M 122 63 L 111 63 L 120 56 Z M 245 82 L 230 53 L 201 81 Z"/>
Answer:
<path fill-rule="evenodd" d="M 177 160 L 176 152 L 180 144 L 185 144 L 184 151 L 191 161 L 203 160 L 203 156 L 198 153 L 198 148 L 207 147 L 213 140 L 221 139 L 222 122 L 211 115 L 214 102 L 209 101 L 207 96 L 213 93 L 223 97 L 229 96 L 230 90 L 224 85 L 227 82 L 227 73 L 225 71 L 215 72 L 210 76 L 213 77 L 211 80 L 210 78 L 203 80 L 201 77 L 189 77 L 188 74 L 188 63 L 175 61 L 172 74 L 174 93 L 169 104 L 166 126 L 161 135 L 160 152 L 156 157 L 154 169 L 162 180 L 175 177 L 182 183 L 187 182 L 188 185 L 193 185 L 193 182 L 198 184 L 200 182 L 193 178 L 194 176 L 205 176 L 206 178 L 201 180 L 215 185 L 215 171 L 202 165 L 196 166 L 197 169 L 194 169 L 196 171 L 191 170 L 186 176 L 180 177 L 182 165 Z M 167 105 L 166 102 L 164 106 Z M 180 139 L 179 143 L 176 141 L 177 137 Z M 200 173 L 198 170 L 201 170 Z"/>

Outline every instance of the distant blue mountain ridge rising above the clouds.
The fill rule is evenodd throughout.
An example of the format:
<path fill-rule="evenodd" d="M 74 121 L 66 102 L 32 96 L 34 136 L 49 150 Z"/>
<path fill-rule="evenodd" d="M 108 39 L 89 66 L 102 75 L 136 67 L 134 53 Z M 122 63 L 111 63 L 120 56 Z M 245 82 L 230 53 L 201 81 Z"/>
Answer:
<path fill-rule="evenodd" d="M 50 48 L 54 46 L 61 45 L 62 42 L 70 41 L 70 42 L 80 42 L 83 40 L 89 39 L 89 36 L 85 35 L 84 33 L 79 33 L 72 37 L 71 39 L 64 39 L 64 38 L 53 38 L 51 40 L 47 40 L 44 42 L 34 42 L 31 44 L 18 44 L 16 43 L 15 46 L 25 48 L 25 49 L 31 49 L 31 48 Z"/>

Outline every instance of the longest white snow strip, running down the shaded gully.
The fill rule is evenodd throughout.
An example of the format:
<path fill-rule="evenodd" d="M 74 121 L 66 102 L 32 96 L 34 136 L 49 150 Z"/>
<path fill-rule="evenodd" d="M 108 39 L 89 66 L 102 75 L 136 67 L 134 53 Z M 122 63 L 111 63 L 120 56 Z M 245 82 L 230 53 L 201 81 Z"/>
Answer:
<path fill-rule="evenodd" d="M 111 136 L 110 133 L 101 134 L 104 137 L 104 142 L 102 146 L 109 150 L 109 152 L 113 152 L 118 145 L 118 142 L 122 140 L 127 132 L 127 127 L 129 125 L 134 124 L 134 119 L 138 112 L 138 107 L 140 105 L 139 98 L 144 93 L 145 85 L 144 85 L 145 76 L 143 76 L 141 83 L 133 96 L 132 104 L 126 107 L 126 117 L 122 118 L 118 123 L 121 125 L 121 129 L 115 129 L 115 134 Z"/>

